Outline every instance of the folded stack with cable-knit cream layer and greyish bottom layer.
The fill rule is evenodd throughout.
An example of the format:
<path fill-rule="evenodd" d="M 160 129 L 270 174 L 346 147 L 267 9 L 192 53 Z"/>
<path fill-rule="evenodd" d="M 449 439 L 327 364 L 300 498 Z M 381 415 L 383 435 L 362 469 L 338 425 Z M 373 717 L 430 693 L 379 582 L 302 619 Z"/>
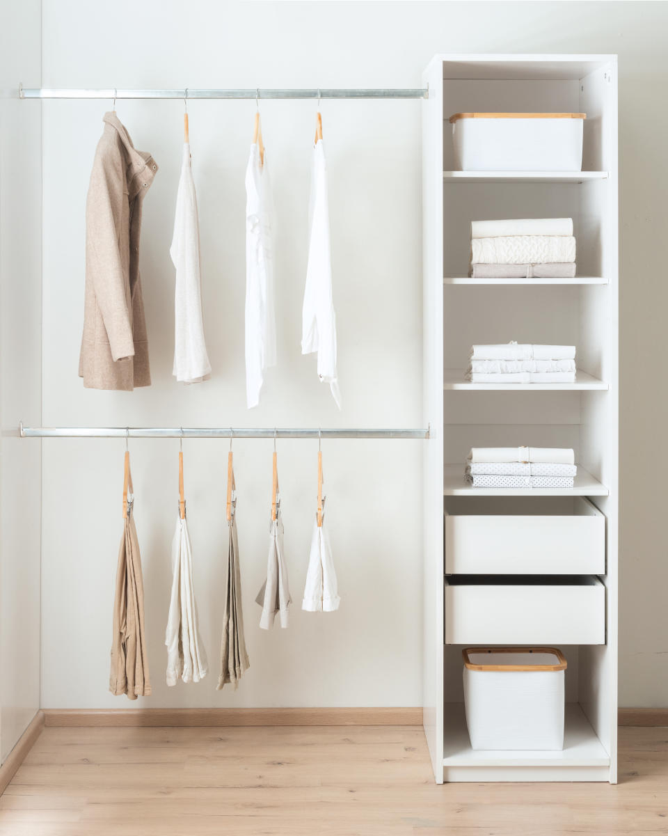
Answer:
<path fill-rule="evenodd" d="M 574 278 L 575 238 L 569 217 L 473 221 L 473 278 Z"/>

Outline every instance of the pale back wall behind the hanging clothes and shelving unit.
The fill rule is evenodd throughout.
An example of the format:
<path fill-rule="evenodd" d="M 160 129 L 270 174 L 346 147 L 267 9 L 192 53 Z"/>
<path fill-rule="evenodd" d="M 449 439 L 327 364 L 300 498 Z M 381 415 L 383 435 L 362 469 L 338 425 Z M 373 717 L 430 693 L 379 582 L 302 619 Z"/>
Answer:
<path fill-rule="evenodd" d="M 59 87 L 417 86 L 443 52 L 620 55 L 621 658 L 624 706 L 668 705 L 665 387 L 657 382 L 668 289 L 668 53 L 665 3 L 43 2 L 43 83 Z M 30 104 L 26 104 L 30 107 Z M 145 205 L 142 268 L 155 383 L 84 391 L 76 377 L 83 306 L 84 200 L 101 102 L 44 104 L 43 421 L 46 424 L 410 426 L 421 400 L 421 138 L 416 102 L 324 102 L 344 412 L 299 355 L 314 104 L 263 102 L 277 220 L 280 365 L 263 403 L 243 403 L 243 171 L 252 102 L 191 103 L 206 328 L 214 377 L 171 379 L 168 256 L 182 105 L 118 104 L 161 166 Z M 34 421 L 33 415 L 23 414 Z M 44 443 L 43 705 L 120 706 L 105 691 L 115 552 L 118 441 Z M 162 646 L 176 512 L 170 441 L 131 445 L 145 560 L 152 705 L 415 705 L 421 701 L 420 464 L 414 442 L 324 448 L 339 614 L 298 609 L 315 446 L 279 444 L 293 592 L 288 631 L 261 634 L 252 603 L 265 559 L 271 444 L 239 442 L 237 482 L 252 669 L 236 694 L 167 691 Z M 220 633 L 224 442 L 185 445 L 202 630 L 215 669 Z M 63 502 L 71 497 L 71 502 Z"/>

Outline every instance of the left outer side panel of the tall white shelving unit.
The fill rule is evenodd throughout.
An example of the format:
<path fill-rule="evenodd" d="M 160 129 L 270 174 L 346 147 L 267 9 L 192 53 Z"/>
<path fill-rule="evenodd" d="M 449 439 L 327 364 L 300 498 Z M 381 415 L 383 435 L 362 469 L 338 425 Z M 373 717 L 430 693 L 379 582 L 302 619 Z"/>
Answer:
<path fill-rule="evenodd" d="M 443 81 L 436 62 L 423 76 L 423 724 L 436 782 L 443 781 Z"/>

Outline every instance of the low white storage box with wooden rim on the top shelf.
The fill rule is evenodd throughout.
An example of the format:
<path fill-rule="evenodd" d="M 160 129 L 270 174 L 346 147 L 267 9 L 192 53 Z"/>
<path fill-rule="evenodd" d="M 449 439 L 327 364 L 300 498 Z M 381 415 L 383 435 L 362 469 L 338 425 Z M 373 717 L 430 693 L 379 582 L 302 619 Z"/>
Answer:
<path fill-rule="evenodd" d="M 584 113 L 456 113 L 459 171 L 581 171 Z"/>

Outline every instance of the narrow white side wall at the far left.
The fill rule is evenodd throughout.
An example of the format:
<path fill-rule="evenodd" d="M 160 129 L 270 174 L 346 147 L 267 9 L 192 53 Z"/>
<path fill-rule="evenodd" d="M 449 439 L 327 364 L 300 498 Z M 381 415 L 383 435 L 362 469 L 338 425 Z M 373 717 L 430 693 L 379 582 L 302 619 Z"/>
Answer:
<path fill-rule="evenodd" d="M 39 708 L 40 445 L 18 438 L 41 415 L 39 108 L 17 73 L 40 79 L 40 3 L 4 4 L 0 25 L 0 762 Z"/>

